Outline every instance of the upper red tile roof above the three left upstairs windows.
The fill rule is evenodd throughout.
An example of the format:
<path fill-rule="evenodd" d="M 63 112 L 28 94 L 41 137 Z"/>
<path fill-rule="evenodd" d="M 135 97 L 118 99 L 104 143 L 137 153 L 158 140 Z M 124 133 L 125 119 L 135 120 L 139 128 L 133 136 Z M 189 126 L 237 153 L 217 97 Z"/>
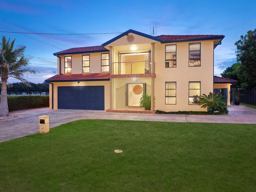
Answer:
<path fill-rule="evenodd" d="M 83 52 L 109 52 L 108 49 L 104 48 L 103 46 L 92 46 L 92 47 L 76 47 L 76 48 L 71 48 L 67 50 L 63 50 L 60 52 L 53 53 L 55 54 L 68 54 L 68 53 L 83 53 Z"/>

